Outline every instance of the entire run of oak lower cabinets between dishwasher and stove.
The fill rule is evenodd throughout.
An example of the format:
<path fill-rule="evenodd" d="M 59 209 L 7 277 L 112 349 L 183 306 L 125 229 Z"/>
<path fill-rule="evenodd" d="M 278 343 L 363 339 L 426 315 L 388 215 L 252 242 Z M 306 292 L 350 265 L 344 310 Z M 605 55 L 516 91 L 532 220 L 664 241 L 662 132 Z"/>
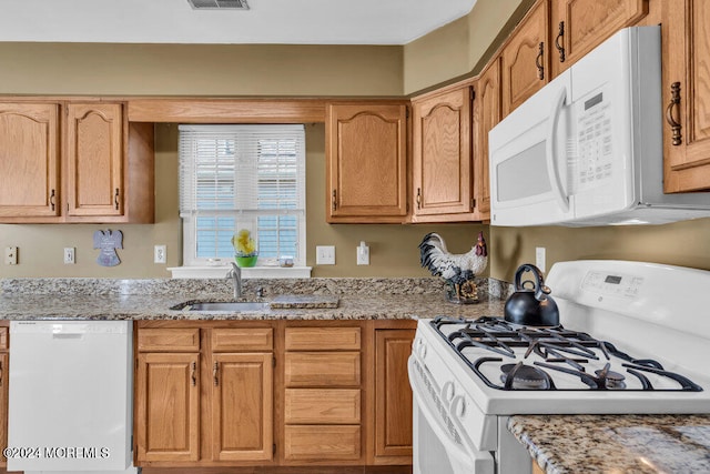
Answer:
<path fill-rule="evenodd" d="M 412 464 L 414 321 L 135 324 L 138 466 Z"/>

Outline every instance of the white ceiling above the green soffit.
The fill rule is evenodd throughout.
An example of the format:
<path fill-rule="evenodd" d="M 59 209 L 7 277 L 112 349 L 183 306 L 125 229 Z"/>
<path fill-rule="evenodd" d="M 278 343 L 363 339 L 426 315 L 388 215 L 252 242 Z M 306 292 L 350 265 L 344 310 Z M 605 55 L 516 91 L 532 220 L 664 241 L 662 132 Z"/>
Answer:
<path fill-rule="evenodd" d="M 467 14 L 476 0 L 0 0 L 0 41 L 406 44 Z"/>

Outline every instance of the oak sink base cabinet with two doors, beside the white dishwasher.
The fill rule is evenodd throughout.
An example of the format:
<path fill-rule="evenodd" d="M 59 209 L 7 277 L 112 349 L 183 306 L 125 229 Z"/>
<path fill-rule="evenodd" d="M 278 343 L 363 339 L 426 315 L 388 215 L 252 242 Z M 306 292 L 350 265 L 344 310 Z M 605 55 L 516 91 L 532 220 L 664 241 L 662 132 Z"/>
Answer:
<path fill-rule="evenodd" d="M 270 463 L 273 329 L 136 324 L 136 465 Z"/>

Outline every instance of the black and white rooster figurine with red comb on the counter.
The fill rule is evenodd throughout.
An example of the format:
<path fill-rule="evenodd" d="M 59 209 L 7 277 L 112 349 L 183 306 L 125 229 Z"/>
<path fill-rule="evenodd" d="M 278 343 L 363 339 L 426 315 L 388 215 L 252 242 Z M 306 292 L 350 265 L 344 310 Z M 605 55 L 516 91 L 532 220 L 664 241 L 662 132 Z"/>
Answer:
<path fill-rule="evenodd" d="M 484 233 L 478 232 L 478 242 L 467 253 L 449 253 L 444 239 L 435 232 L 428 233 L 419 244 L 422 266 L 433 275 L 442 276 L 449 285 L 449 301 L 478 301 L 474 278 L 483 273 L 488 264 L 488 250 Z"/>

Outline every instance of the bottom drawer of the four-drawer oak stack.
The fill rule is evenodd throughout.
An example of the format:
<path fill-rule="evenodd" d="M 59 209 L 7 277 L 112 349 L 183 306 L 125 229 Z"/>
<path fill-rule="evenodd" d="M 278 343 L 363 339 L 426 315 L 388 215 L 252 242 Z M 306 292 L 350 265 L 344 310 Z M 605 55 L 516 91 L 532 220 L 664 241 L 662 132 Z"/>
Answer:
<path fill-rule="evenodd" d="M 361 457 L 359 426 L 286 425 L 286 461 L 357 461 Z"/>

